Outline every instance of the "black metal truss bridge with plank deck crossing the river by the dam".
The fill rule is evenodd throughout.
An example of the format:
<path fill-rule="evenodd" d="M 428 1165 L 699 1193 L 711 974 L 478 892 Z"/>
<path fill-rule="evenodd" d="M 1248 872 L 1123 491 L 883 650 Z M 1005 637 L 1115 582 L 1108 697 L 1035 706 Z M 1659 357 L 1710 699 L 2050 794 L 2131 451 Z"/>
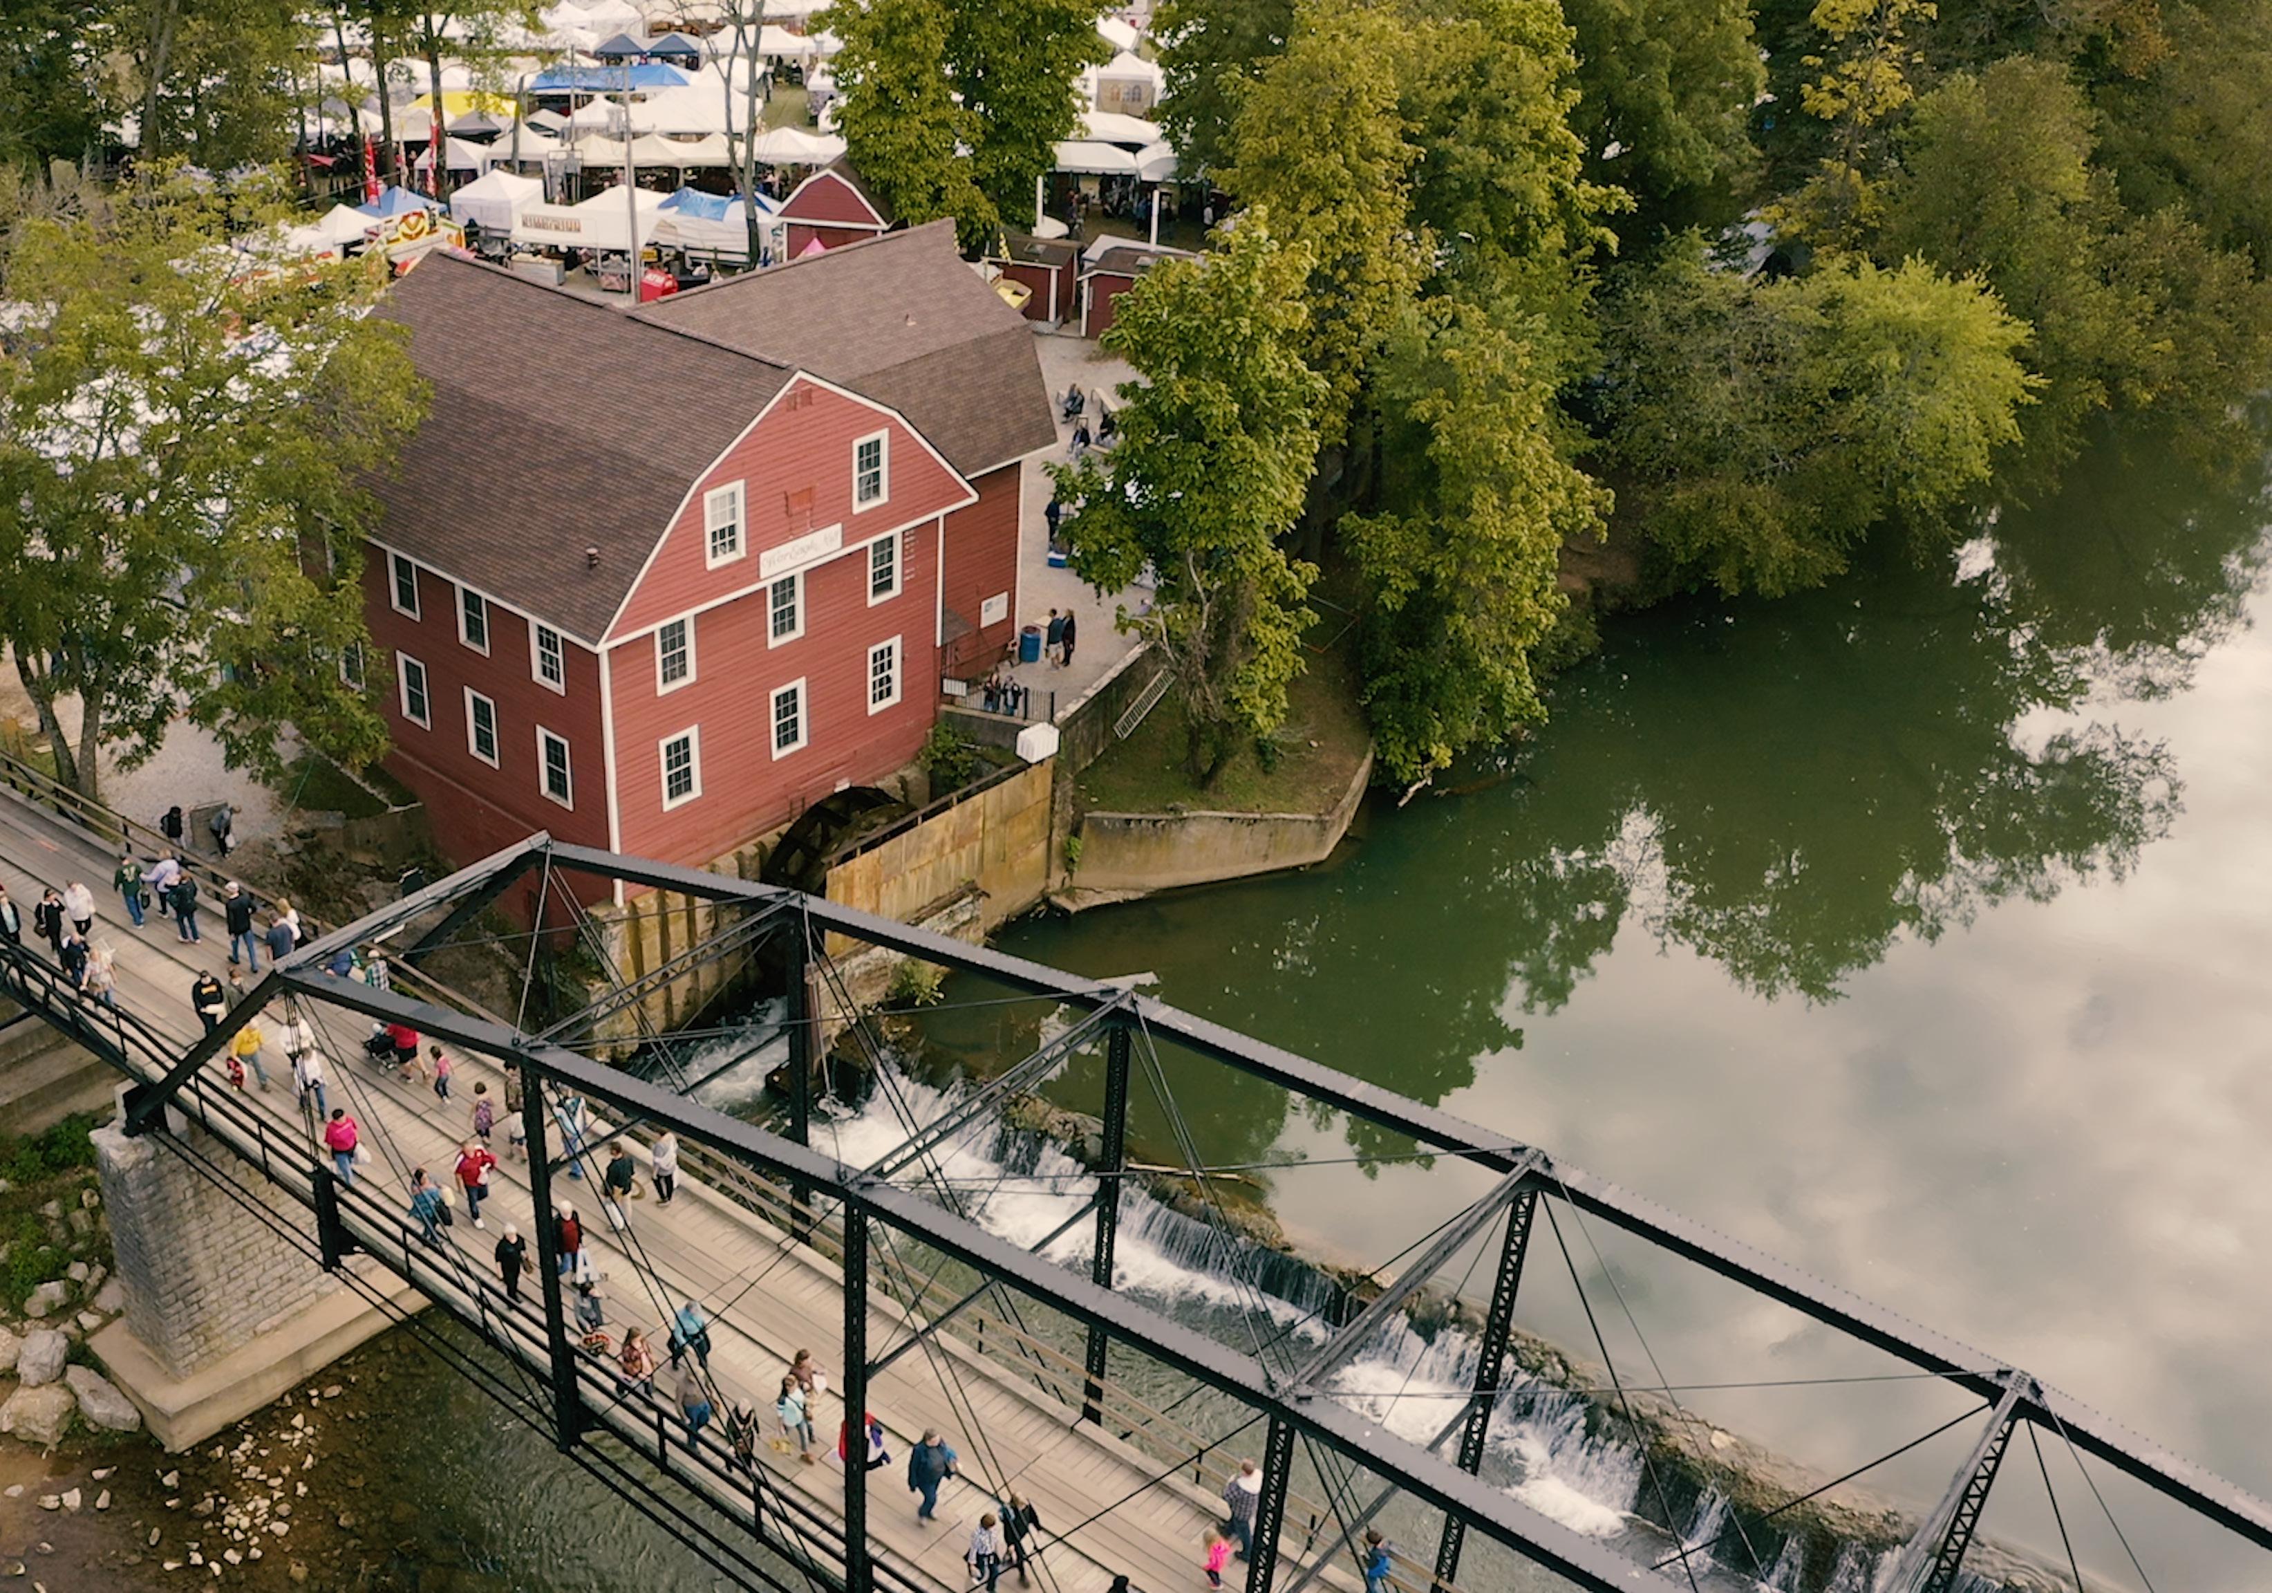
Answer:
<path fill-rule="evenodd" d="M 25 836 L 34 820 L 45 823 L 52 834 L 41 832 L 41 845 L 52 848 L 66 827 L 11 798 L 0 798 L 0 807 L 7 809 L 0 814 L 0 861 L 18 875 L 52 868 L 52 859 L 27 857 Z M 100 864 L 95 841 L 82 836 L 80 845 Z M 436 950 L 479 939 L 482 916 L 513 889 L 536 891 L 538 932 L 550 925 L 559 936 L 582 936 L 588 950 L 588 925 L 566 889 L 568 877 L 711 902 L 716 934 L 645 979 L 616 982 L 607 998 L 570 1014 L 545 1011 L 541 1020 L 529 1014 L 527 989 L 520 1011 L 498 1016 L 420 973 Z M 557 909 L 550 907 L 554 898 Z M 523 939 L 534 970 L 538 936 Z M 132 950 L 143 957 L 150 945 L 139 941 Z M 395 968 L 393 989 L 327 970 L 343 948 L 379 945 L 389 948 Z M 847 948 L 884 948 L 977 975 L 1072 1020 L 1034 1054 L 952 1098 L 945 1116 L 909 1120 L 888 1157 L 852 1166 L 816 1148 L 811 1134 L 825 1104 L 816 1084 L 822 1039 L 836 1048 L 875 1043 L 843 979 Z M 148 954 L 170 959 L 173 950 Z M 757 959 L 786 1002 L 777 1025 L 788 1045 L 784 1132 L 700 1104 L 677 1070 L 650 1079 L 588 1054 L 588 1036 L 632 1011 L 657 979 L 718 957 Z M 304 1223 L 284 1227 L 311 1259 L 373 1302 L 389 1293 L 377 1268 L 414 1284 L 434 1311 L 495 1352 L 466 1354 L 463 1336 L 450 1336 L 459 1348 L 443 1348 L 466 1375 L 541 1423 L 563 1454 L 636 1498 L 716 1568 L 750 1586 L 784 1593 L 961 1588 L 966 1534 L 909 1523 L 897 1477 L 916 1432 L 938 1427 L 963 1450 L 963 1473 L 972 1477 L 966 1486 L 979 1486 L 988 1502 L 1016 1488 L 1038 1507 L 1036 1575 L 1047 1593 L 1104 1593 L 1113 1575 L 1127 1575 L 1138 1593 L 1197 1586 L 1200 1534 L 1220 1518 L 1216 1493 L 1241 1448 L 1261 1457 L 1263 1479 L 1254 1552 L 1243 1568 L 1247 1593 L 1300 1593 L 1318 1582 L 1354 1593 L 1361 1534 L 1393 1500 L 1404 1520 L 1420 1509 L 1438 1523 L 1427 1550 L 1395 1552 L 1390 1586 L 1406 1593 L 1509 1586 L 1513 1566 L 1504 1554 L 1581 1588 L 1695 1588 L 1709 1573 L 1709 1563 L 1695 1563 L 1699 1545 L 1681 1545 L 1674 1536 L 1670 1552 L 1647 1563 L 1550 1520 L 1479 1475 L 1500 1395 L 1511 1382 L 1509 1343 L 1536 1218 L 1552 1218 L 1556 1209 L 1634 1234 L 1979 1402 L 1977 1443 L 1890 1575 L 1881 1575 L 1879 1593 L 1956 1586 L 1997 1468 L 2022 1429 L 2040 1429 L 2047 1443 L 2077 1454 L 2077 1466 L 2088 1454 L 2272 1550 L 2272 1509 L 2233 1484 L 2124 1432 L 2018 1366 L 1731 1243 L 1536 1145 L 1511 1143 L 1234 1034 L 1129 984 L 1077 979 L 827 900 L 538 834 L 304 941 L 209 1034 L 195 1034 L 189 1020 L 177 995 L 184 979 L 164 970 L 150 979 L 127 977 L 132 973 L 120 968 L 123 1009 L 95 1007 L 45 959 L 0 943 L 0 991 L 132 1079 L 123 1123 L 130 1134 L 157 1136 L 191 1161 L 236 1157 L 257 1166 L 286 1198 L 277 1202 L 282 1211 L 307 1213 Z M 136 1000 L 143 986 L 150 995 Z M 220 1077 L 232 1034 L 277 1007 L 316 1023 L 332 1059 L 334 1100 L 352 1107 L 366 1143 L 377 1150 L 375 1164 L 350 1184 L 314 1143 L 314 1123 L 289 1104 L 291 1091 L 254 1095 Z M 393 1068 L 364 1061 L 359 1041 L 375 1023 L 409 1025 L 457 1052 L 459 1102 L 448 1114 L 434 1109 L 425 1089 L 398 1086 Z M 579 1043 L 586 1050 L 577 1050 Z M 1490 1191 L 1411 1250 L 1379 1293 L 1361 1309 L 1352 1304 L 1338 1325 L 1277 1332 L 1270 1345 L 1256 1336 L 1247 1348 L 1209 1336 L 1113 1288 L 1131 1075 L 1141 1066 L 1156 1068 L 1156 1045 L 1175 1045 L 1472 1164 L 1488 1173 Z M 1031 1089 L 1077 1048 L 1104 1054 L 1093 1195 L 1029 1250 L 966 1213 L 952 1184 L 936 1177 L 936 1154 L 1002 1095 Z M 486 1079 L 493 1095 L 502 1095 L 507 1073 L 518 1079 L 527 1141 L 538 1150 L 525 1164 L 500 1168 L 500 1191 L 488 1204 L 536 1241 L 532 1282 L 538 1291 L 523 1302 L 502 1295 L 486 1236 L 479 1248 L 461 1248 L 473 1234 L 459 1225 L 454 1238 L 432 1245 L 404 1216 L 409 1168 L 427 1166 L 448 1177 L 470 1084 Z M 579 1143 L 563 1141 L 557 1129 L 559 1107 L 570 1098 L 593 1114 Z M 645 1204 L 632 1207 L 623 1227 L 609 1225 L 600 1218 L 602 1148 L 623 1143 L 645 1161 L 648 1145 L 666 1129 L 684 1145 L 688 1186 L 670 1220 Z M 1206 1189 L 1204 1177 L 1197 1186 Z M 834 1448 L 838 1411 L 879 1411 L 891 1429 L 893 1470 L 836 1466 L 834 1457 L 800 1466 L 795 1454 L 772 1445 L 745 1445 L 741 1459 L 718 1441 L 688 1450 L 675 1407 L 666 1411 L 666 1402 L 636 1391 L 627 1398 L 613 1363 L 584 1352 L 563 1295 L 554 1223 L 536 1220 L 577 1195 L 586 1204 L 586 1245 L 600 1252 L 613 1279 L 620 1323 L 652 1323 L 661 1348 L 675 1302 L 707 1304 L 716 1350 L 702 1368 L 688 1359 L 684 1375 L 700 1379 L 720 1413 L 752 1407 L 770 1425 L 791 1350 L 813 1348 L 838 1368 L 838 1386 L 820 1416 L 822 1448 Z M 1086 1266 L 1068 1268 L 1043 1254 L 1079 1227 L 1088 1229 Z M 1495 1259 L 1495 1277 L 1475 1386 L 1447 1411 L 1434 1443 L 1406 1441 L 1343 1398 L 1336 1373 L 1454 1257 L 1477 1245 Z M 1209 1416 L 1186 1425 L 1175 1409 L 1193 1398 Z M 1004 1448 L 1011 1459 L 1002 1457 Z M 1306 1457 L 1306 1466 L 1297 1457 Z M 1375 1498 L 1356 1498 L 1359 1477 L 1370 1479 Z M 888 1479 L 882 1493 L 877 1479 Z M 968 1523 L 977 1507 L 966 1500 L 952 1513 Z M 1490 1550 L 1488 1561 L 1481 1548 Z M 1465 1584 L 1463 1563 L 1470 1568 Z"/>

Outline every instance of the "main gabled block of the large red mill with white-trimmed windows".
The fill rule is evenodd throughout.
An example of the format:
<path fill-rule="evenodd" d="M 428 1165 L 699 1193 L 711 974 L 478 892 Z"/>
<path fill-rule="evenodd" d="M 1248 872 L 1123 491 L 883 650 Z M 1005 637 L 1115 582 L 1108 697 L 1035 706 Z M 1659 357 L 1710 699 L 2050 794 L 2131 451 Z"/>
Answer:
<path fill-rule="evenodd" d="M 818 320 L 825 261 L 777 275 Z M 888 280 L 836 277 L 834 325 L 920 320 L 868 298 Z M 932 727 L 950 516 L 984 536 L 984 495 L 893 402 L 666 325 L 677 302 L 625 314 L 457 255 L 386 298 L 434 400 L 375 484 L 366 609 L 389 768 L 461 861 L 550 829 L 702 864 Z M 952 355 L 922 375 L 943 420 L 1009 391 L 966 393 Z M 1038 368 L 1031 402 L 1045 423 Z"/>

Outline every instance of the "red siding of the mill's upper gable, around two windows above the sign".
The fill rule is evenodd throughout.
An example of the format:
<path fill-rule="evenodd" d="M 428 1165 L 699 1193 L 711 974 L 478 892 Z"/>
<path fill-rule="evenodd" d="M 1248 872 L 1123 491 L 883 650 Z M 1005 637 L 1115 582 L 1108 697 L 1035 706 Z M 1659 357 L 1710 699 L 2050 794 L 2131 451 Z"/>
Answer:
<path fill-rule="evenodd" d="M 891 434 L 888 495 L 882 504 L 854 511 L 852 443 L 872 432 Z M 732 482 L 743 482 L 747 552 L 711 570 L 702 502 L 711 489 Z M 809 507 L 802 493 L 811 493 Z M 759 575 L 763 552 L 807 532 L 843 525 L 843 541 L 852 545 L 909 520 L 929 520 L 968 495 L 963 482 L 907 423 L 800 377 L 688 493 L 679 518 L 625 600 L 609 641 L 757 586 L 763 579 Z M 929 625 L 922 627 L 922 636 L 929 648 Z"/>

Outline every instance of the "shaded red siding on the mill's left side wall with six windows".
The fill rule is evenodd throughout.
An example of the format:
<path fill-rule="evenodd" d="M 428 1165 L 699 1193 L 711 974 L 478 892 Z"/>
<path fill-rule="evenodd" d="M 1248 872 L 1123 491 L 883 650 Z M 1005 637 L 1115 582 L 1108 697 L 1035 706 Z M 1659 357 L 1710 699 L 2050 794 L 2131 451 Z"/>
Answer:
<path fill-rule="evenodd" d="M 425 802 L 434 841 L 454 864 L 470 864 L 536 829 L 579 845 L 607 845 L 607 752 L 600 734 L 600 659 L 561 639 L 568 691 L 534 679 L 529 625 L 488 604 L 488 657 L 457 639 L 457 586 L 434 570 L 418 570 L 418 614 L 398 614 L 389 600 L 391 557 L 370 548 L 364 559 L 364 616 L 377 652 L 368 664 L 379 689 L 393 752 L 386 770 Z M 402 718 L 395 652 L 425 664 L 432 729 Z M 384 657 L 379 657 L 384 654 Z M 466 686 L 498 704 L 498 768 L 477 759 L 466 741 Z M 568 741 L 575 809 L 552 802 L 536 768 L 536 727 Z M 579 900 L 607 895 L 602 882 L 573 882 Z M 504 902 L 529 920 L 527 893 Z M 559 904 L 554 902 L 554 909 Z"/>

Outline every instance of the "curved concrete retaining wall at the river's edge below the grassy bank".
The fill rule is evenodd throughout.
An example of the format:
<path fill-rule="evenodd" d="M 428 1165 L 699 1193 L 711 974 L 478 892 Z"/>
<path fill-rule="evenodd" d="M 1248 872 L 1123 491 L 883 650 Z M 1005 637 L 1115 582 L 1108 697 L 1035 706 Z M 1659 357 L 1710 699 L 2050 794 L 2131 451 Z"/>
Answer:
<path fill-rule="evenodd" d="M 1077 891 L 1168 891 L 1322 864 L 1356 818 L 1372 754 L 1327 814 L 1084 814 Z"/>

